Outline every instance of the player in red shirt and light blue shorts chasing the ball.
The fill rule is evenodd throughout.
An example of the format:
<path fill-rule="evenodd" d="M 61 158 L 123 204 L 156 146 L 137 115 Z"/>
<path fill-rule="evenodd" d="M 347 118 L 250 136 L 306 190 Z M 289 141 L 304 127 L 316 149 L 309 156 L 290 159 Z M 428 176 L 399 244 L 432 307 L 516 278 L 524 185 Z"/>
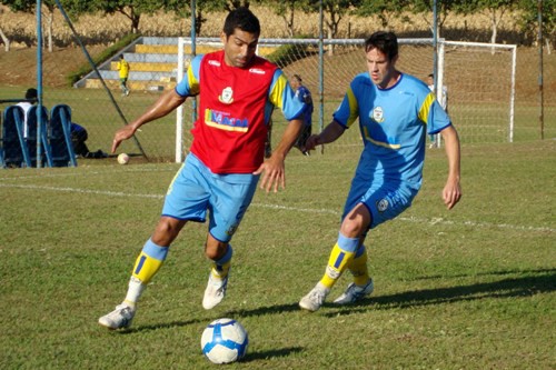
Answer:
<path fill-rule="evenodd" d="M 224 50 L 196 57 L 178 86 L 163 93 L 137 120 L 118 130 L 112 152 L 142 124 L 161 118 L 188 97 L 199 96 L 199 119 L 195 122 L 190 153 L 170 183 L 162 214 L 136 260 L 128 292 L 116 310 L 101 317 L 109 329 L 128 328 L 137 301 L 166 260 L 169 247 L 188 221 L 205 222 L 208 233 L 205 253 L 212 261 L 205 309 L 226 294 L 232 258 L 231 237 L 260 187 L 277 192 L 285 188 L 284 161 L 302 128 L 305 104 L 295 98 L 282 71 L 256 56 L 260 24 L 246 8 L 226 18 Z M 265 141 L 274 108 L 289 121 L 279 144 L 265 160 Z"/>

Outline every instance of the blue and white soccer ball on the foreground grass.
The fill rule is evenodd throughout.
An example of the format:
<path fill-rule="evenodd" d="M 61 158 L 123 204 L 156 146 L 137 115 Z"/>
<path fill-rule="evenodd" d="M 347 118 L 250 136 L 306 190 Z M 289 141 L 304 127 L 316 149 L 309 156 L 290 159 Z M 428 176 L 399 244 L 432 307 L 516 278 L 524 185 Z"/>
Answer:
<path fill-rule="evenodd" d="M 202 354 L 212 363 L 230 363 L 247 352 L 249 338 L 245 328 L 232 319 L 218 319 L 205 328 L 201 337 Z"/>

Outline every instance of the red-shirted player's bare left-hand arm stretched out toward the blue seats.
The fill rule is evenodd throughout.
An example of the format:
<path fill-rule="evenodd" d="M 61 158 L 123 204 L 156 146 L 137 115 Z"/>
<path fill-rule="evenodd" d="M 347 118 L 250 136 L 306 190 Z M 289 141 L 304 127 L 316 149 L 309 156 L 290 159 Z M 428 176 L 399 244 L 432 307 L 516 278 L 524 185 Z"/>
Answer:
<path fill-rule="evenodd" d="M 186 98 L 179 96 L 173 89 L 165 92 L 138 119 L 116 131 L 112 141 L 112 153 L 116 152 L 116 149 L 123 140 L 131 138 L 141 126 L 165 117 L 183 103 L 185 100 Z"/>

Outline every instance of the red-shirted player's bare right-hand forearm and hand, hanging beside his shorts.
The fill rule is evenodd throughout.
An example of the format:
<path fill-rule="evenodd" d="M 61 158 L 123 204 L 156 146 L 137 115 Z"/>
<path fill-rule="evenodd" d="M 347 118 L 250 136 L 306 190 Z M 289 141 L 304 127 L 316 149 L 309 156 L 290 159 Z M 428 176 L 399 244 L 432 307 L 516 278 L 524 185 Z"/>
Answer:
<path fill-rule="evenodd" d="M 288 127 L 284 131 L 280 142 L 272 151 L 272 156 L 260 167 L 254 174 L 262 173 L 262 179 L 260 181 L 260 188 L 266 189 L 267 192 L 274 189 L 274 192 L 278 191 L 278 187 L 282 189 L 286 188 L 286 167 L 284 161 L 288 154 L 291 147 L 296 142 L 301 129 L 304 127 L 304 121 L 300 119 L 295 119 L 289 121 Z"/>

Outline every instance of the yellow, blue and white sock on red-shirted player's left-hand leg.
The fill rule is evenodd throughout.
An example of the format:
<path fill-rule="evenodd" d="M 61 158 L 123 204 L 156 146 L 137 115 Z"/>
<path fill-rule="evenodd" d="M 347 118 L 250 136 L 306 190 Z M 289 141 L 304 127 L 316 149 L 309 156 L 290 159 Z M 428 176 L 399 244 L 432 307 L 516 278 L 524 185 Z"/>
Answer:
<path fill-rule="evenodd" d="M 139 297 L 141 297 L 145 287 L 149 283 L 152 277 L 158 272 L 162 262 L 168 256 L 169 247 L 161 247 L 147 240 L 141 253 L 136 260 L 131 279 L 129 280 L 128 293 L 125 302 L 135 307 Z"/>

